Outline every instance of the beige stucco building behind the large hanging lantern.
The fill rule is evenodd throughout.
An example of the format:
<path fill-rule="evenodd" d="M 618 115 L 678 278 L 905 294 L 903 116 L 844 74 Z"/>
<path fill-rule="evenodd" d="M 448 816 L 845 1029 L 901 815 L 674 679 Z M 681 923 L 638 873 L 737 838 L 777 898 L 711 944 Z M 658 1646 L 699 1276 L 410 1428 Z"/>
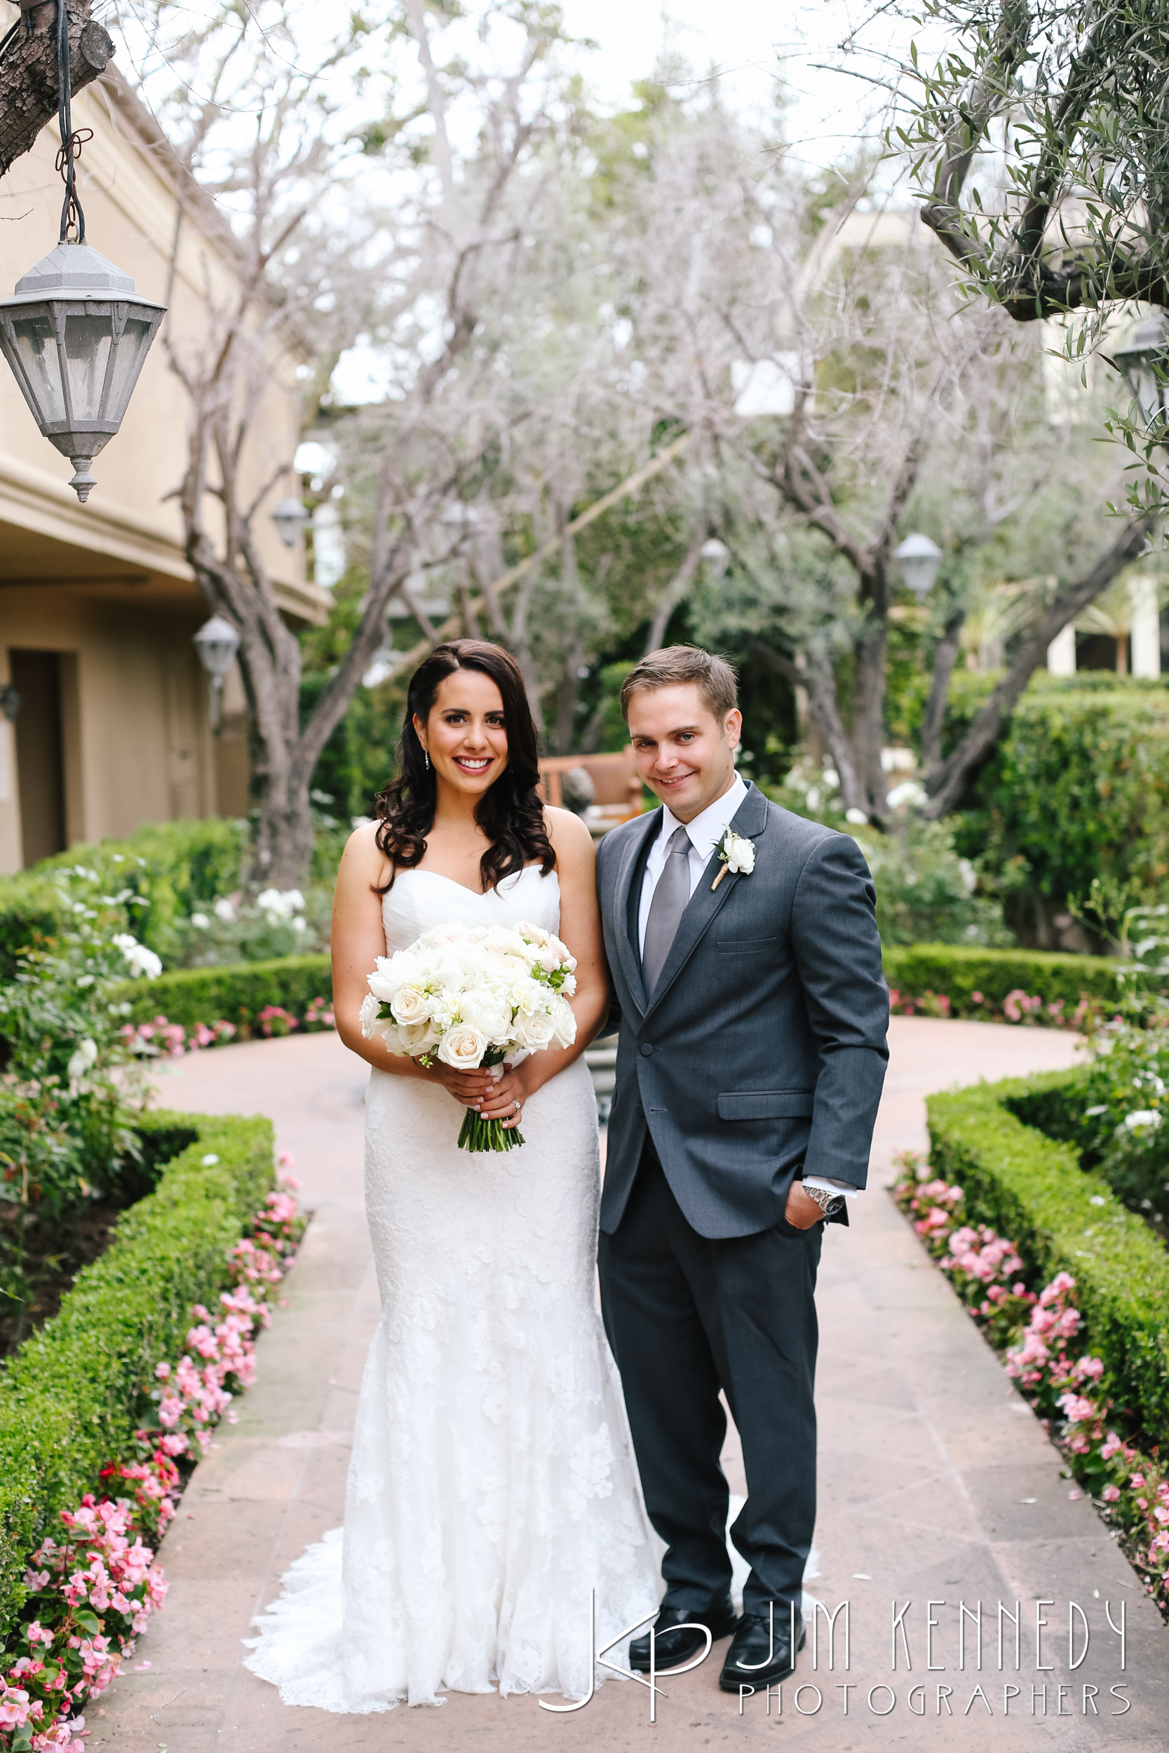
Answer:
<path fill-rule="evenodd" d="M 74 100 L 93 128 L 81 158 L 86 242 L 170 303 L 175 340 L 196 337 L 205 287 L 237 272 L 231 237 L 198 191 L 184 198 L 174 279 L 177 170 L 165 138 L 124 82 L 105 75 Z M 58 238 L 56 130 L 0 179 L 0 296 Z M 170 286 L 170 291 L 168 291 Z M 294 342 L 277 344 L 254 426 L 254 489 L 300 433 Z M 210 736 L 207 682 L 191 635 L 207 619 L 170 496 L 186 468 L 186 393 L 156 338 L 123 428 L 95 459 L 79 505 L 70 465 L 42 438 L 0 359 L 0 685 L 21 696 L 0 719 L 0 871 L 140 822 L 244 813 L 244 694 L 230 677 L 224 735 Z M 287 477 L 270 500 L 300 487 Z M 289 621 L 322 621 L 324 591 L 305 582 L 300 549 L 258 519 L 265 563 Z"/>

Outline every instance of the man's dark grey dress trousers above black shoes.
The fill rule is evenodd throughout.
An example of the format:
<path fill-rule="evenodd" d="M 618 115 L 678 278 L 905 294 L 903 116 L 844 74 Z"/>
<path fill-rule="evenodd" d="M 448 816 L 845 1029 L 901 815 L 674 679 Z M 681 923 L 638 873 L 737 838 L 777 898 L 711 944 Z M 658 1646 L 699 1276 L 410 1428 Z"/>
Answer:
<path fill-rule="evenodd" d="M 615 1234 L 599 1238 L 601 1309 L 620 1369 L 641 1488 L 666 1543 L 664 1604 L 703 1611 L 731 1581 L 726 1413 L 747 1504 L 731 1537 L 750 1564 L 747 1613 L 799 1606 L 815 1523 L 815 1278 L 820 1232 L 783 1218 L 710 1241 L 682 1215 L 652 1145 Z M 785 1622 L 783 1622 L 785 1623 Z"/>

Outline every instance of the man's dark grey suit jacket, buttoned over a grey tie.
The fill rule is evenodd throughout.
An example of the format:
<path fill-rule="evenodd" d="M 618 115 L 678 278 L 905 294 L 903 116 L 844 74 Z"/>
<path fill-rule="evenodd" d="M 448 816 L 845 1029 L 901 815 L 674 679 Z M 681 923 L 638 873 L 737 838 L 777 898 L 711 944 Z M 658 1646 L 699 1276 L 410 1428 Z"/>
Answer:
<path fill-rule="evenodd" d="M 601 1229 L 626 1210 L 647 1129 L 687 1222 L 708 1238 L 783 1220 L 792 1178 L 864 1187 L 889 1048 L 873 878 L 848 834 L 748 785 L 734 822 L 750 875 L 717 852 L 654 997 L 638 950 L 645 859 L 661 813 L 598 852 L 605 948 L 620 1008 Z M 843 1215 L 847 1222 L 847 1215 Z"/>

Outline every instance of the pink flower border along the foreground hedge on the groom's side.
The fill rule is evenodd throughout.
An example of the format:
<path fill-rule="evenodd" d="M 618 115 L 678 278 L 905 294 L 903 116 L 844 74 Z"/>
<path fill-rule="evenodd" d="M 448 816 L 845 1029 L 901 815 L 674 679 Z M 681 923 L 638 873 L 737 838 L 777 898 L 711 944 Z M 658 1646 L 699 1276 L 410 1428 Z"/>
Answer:
<path fill-rule="evenodd" d="M 1104 1520 L 1123 1530 L 1148 1593 L 1169 1616 L 1169 1462 L 1115 1429 L 1120 1418 L 1104 1364 L 1081 1350 L 1076 1280 L 1057 1273 L 1031 1290 L 1015 1245 L 964 1222 L 960 1187 L 931 1180 L 913 1152 L 899 1162 L 904 1178 L 894 1199 L 990 1341 L 1006 1352 L 1008 1376 L 1041 1413 Z"/>

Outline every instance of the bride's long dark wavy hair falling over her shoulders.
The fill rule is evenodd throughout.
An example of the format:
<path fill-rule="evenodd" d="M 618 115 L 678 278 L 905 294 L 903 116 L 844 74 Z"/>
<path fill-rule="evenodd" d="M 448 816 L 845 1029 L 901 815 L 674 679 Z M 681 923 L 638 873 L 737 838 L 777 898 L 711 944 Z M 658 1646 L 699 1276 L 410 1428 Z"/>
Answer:
<path fill-rule="evenodd" d="M 393 889 L 398 869 L 414 869 L 422 862 L 426 836 L 435 826 L 438 787 L 435 770 L 426 764 L 422 743 L 414 729 L 414 715 L 417 713 L 426 724 L 440 685 L 456 670 L 478 670 L 480 675 L 491 677 L 503 699 L 508 740 L 507 768 L 475 808 L 475 820 L 491 841 L 478 861 L 484 891 L 498 889 L 505 876 L 515 875 L 526 864 L 540 861 L 545 876 L 556 864 L 536 791 L 540 785 L 536 726 L 521 668 L 510 652 L 489 640 L 449 640 L 445 645 L 436 645 L 410 677 L 400 773 L 377 799 L 380 817 L 377 845 L 391 861 L 389 882 L 379 894 Z"/>

